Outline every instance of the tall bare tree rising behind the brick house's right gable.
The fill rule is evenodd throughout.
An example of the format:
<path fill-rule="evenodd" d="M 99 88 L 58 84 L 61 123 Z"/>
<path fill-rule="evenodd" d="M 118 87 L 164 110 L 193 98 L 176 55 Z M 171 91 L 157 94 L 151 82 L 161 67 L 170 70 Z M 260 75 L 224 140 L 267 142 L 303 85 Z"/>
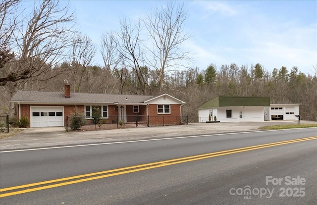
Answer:
<path fill-rule="evenodd" d="M 189 53 L 180 48 L 180 45 L 189 38 L 183 33 L 186 18 L 187 11 L 184 4 L 179 6 L 169 2 L 166 7 L 156 10 L 153 15 L 147 15 L 144 20 L 153 42 L 152 46 L 146 46 L 151 53 L 147 57 L 147 62 L 159 72 L 159 93 L 165 71 L 183 66 L 184 60 L 190 60 Z"/>

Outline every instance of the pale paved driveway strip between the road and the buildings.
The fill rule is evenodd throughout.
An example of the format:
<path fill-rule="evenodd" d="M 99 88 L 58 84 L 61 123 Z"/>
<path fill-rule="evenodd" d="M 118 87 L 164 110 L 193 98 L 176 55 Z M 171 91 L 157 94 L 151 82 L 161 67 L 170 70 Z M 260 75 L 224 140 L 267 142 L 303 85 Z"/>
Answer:
<path fill-rule="evenodd" d="M 317 124 L 315 121 L 301 121 L 301 124 L 305 123 Z M 190 123 L 188 125 L 134 127 L 89 132 L 66 132 L 64 127 L 28 128 L 16 136 L 1 139 L 0 150 L 250 132 L 259 130 L 262 126 L 278 124 L 297 124 L 297 121 Z"/>

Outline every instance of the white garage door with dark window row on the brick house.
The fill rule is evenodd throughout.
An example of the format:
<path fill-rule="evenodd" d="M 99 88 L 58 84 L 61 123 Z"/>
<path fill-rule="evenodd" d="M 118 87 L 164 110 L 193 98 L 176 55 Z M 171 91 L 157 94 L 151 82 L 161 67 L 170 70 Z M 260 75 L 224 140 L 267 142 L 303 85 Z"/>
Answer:
<path fill-rule="evenodd" d="M 63 107 L 61 106 L 31 106 L 30 127 L 64 126 Z"/>

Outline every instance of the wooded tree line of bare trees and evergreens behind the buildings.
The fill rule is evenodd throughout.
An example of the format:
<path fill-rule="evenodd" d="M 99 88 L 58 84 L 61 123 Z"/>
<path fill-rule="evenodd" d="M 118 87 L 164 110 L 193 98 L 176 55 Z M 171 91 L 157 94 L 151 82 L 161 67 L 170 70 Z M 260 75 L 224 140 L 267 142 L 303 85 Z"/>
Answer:
<path fill-rule="evenodd" d="M 270 97 L 271 103 L 303 103 L 302 119 L 317 117 L 315 73 L 299 68 L 210 64 L 206 69 L 185 66 L 190 51 L 182 43 L 187 19 L 183 4 L 169 2 L 137 21 L 120 20 L 117 31 L 101 36 L 98 50 L 92 39 L 74 29 L 68 5 L 57 0 L 34 3 L 22 15 L 21 1 L 0 5 L 0 108 L 14 114 L 9 100 L 19 90 L 158 95 L 168 93 L 186 102 L 183 115 L 198 120 L 196 108 L 216 96 Z M 93 63 L 100 52 L 103 65 Z"/>

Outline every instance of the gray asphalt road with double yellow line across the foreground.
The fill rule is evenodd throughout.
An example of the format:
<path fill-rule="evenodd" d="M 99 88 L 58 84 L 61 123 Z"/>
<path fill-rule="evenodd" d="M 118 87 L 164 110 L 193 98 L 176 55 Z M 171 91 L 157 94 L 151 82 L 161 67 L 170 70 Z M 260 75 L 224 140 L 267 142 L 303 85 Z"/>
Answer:
<path fill-rule="evenodd" d="M 291 141 L 316 136 L 307 128 L 1 152 L 0 204 L 316 205 L 317 139 Z"/>

